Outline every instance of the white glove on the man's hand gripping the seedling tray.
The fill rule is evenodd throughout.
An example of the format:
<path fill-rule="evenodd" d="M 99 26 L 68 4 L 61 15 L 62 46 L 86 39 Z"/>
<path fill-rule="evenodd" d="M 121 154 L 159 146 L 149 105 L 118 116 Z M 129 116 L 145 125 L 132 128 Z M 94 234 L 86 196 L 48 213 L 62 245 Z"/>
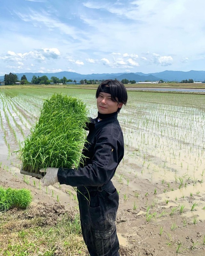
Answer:
<path fill-rule="evenodd" d="M 46 172 L 44 178 L 42 178 L 42 186 L 50 186 L 58 182 L 58 168 L 48 167 L 46 169 L 40 169 L 40 172 Z"/>

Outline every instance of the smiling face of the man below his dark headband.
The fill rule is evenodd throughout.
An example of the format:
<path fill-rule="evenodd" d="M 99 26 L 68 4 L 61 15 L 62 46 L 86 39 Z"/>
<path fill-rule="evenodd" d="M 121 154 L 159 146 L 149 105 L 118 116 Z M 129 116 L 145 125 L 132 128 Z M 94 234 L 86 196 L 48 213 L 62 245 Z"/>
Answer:
<path fill-rule="evenodd" d="M 111 99 L 111 94 L 100 92 L 97 97 L 97 109 L 101 114 L 111 114 L 122 107 L 122 103 L 114 102 Z"/>

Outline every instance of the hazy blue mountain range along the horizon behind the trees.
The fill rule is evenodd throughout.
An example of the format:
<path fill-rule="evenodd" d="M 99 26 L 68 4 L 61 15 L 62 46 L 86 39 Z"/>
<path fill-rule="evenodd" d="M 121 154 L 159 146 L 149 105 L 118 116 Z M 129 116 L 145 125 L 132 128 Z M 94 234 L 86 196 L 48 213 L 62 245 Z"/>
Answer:
<path fill-rule="evenodd" d="M 103 74 L 89 74 L 83 75 L 75 72 L 68 72 L 62 71 L 57 73 L 13 73 L 18 76 L 20 79 L 23 75 L 26 76 L 27 80 L 31 82 L 33 76 L 47 76 L 48 79 L 51 79 L 52 76 L 57 77 L 59 79 L 66 77 L 67 79 L 72 79 L 76 81 L 80 81 L 81 79 L 115 79 L 118 80 L 128 79 L 128 80 L 135 80 L 136 82 L 144 82 L 145 80 L 149 81 L 159 81 L 160 79 L 164 81 L 182 81 L 185 79 L 193 79 L 194 81 L 204 81 L 205 80 L 205 71 L 197 71 L 197 70 L 190 70 L 187 72 L 184 71 L 172 71 L 172 70 L 165 70 L 162 72 L 157 73 L 148 73 L 144 74 L 142 72 L 136 73 L 103 73 Z M 0 81 L 4 81 L 4 76 L 0 76 Z"/>

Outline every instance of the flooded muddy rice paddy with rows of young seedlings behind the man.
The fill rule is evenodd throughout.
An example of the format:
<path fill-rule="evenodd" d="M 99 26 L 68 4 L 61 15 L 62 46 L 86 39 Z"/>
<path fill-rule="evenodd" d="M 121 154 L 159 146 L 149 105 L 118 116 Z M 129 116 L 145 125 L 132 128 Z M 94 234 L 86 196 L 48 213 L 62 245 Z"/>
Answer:
<path fill-rule="evenodd" d="M 41 188 L 37 179 L 20 174 L 21 162 L 13 153 L 54 93 L 81 99 L 96 117 L 95 90 L 0 89 L 0 185 L 29 188 L 34 206 L 53 200 L 77 209 L 71 187 Z M 125 155 L 113 178 L 120 197 L 121 255 L 204 255 L 205 95 L 128 91 L 118 119 L 125 141 Z M 87 255 L 75 253 L 52 255 Z"/>

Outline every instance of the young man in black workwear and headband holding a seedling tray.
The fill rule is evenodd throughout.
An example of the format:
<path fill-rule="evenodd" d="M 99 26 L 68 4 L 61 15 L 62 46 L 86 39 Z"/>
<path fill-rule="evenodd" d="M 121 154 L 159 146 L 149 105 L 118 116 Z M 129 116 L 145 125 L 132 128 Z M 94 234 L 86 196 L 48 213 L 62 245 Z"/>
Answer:
<path fill-rule="evenodd" d="M 84 162 L 78 169 L 47 168 L 42 183 L 77 186 L 82 235 L 90 255 L 118 256 L 115 220 L 119 195 L 111 178 L 124 155 L 117 116 L 127 103 L 127 91 L 121 82 L 105 80 L 97 88 L 96 98 L 98 117 L 87 125 Z"/>

